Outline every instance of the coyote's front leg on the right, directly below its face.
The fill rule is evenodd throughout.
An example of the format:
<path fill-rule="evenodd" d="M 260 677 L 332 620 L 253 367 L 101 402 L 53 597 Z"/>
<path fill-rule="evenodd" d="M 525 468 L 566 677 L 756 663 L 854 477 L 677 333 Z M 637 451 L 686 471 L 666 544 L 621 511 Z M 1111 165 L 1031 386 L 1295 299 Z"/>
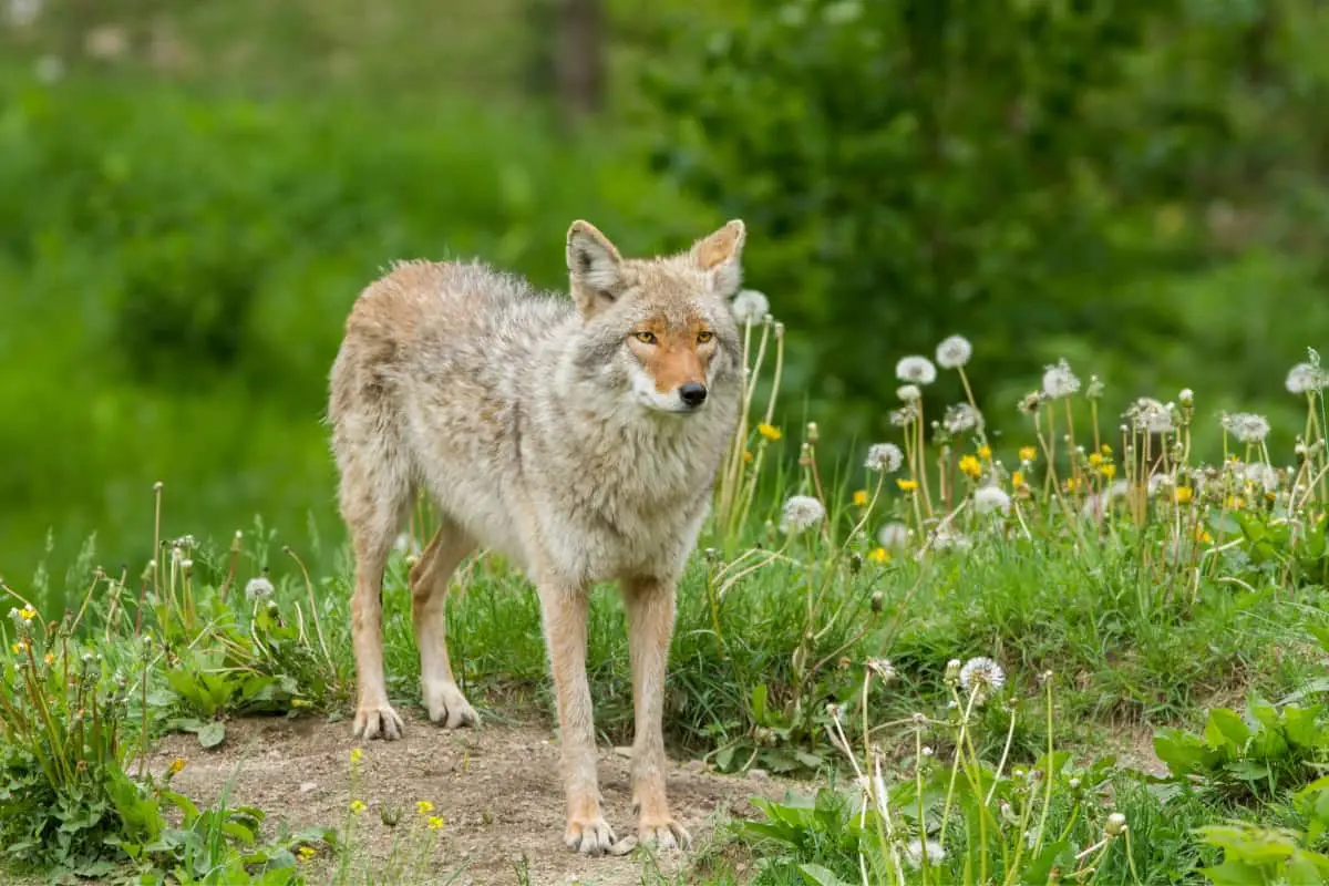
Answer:
<path fill-rule="evenodd" d="M 691 837 L 674 821 L 664 792 L 664 669 L 674 630 L 674 583 L 633 579 L 623 583 L 627 643 L 633 656 L 633 805 L 638 840 L 661 849 L 687 847 Z"/>

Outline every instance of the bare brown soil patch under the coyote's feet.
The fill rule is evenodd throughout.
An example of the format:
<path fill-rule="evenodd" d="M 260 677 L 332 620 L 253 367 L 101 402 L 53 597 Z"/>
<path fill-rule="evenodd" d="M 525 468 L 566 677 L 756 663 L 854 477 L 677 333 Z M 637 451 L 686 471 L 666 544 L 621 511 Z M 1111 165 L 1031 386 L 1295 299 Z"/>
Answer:
<path fill-rule="evenodd" d="M 202 749 L 191 735 L 167 736 L 149 765 L 163 772 L 171 760 L 186 758 L 173 786 L 199 804 L 215 801 L 230 782 L 227 804 L 263 809 L 268 836 L 279 821 L 294 829 L 340 826 L 351 801 L 360 800 L 368 809 L 358 822 L 354 854 L 371 859 L 369 870 L 389 855 L 400 836 L 381 822 L 380 812 L 401 809 L 405 824 L 417 816 L 416 801 L 428 800 L 447 824 L 427 883 L 447 882 L 462 866 L 453 882 L 477 886 L 635 886 L 643 882 L 643 866 L 657 866 L 667 877 L 682 871 L 682 881 L 691 882 L 686 853 L 661 853 L 654 861 L 641 851 L 586 858 L 563 847 L 558 745 L 549 725 L 489 720 L 477 729 L 447 731 L 413 711 L 399 712 L 407 723 L 401 741 L 359 741 L 350 721 L 245 719 L 229 723 L 225 744 L 213 751 Z M 354 748 L 363 748 L 364 756 L 352 797 Z M 599 778 L 605 816 L 622 840 L 635 830 L 627 757 L 602 748 Z M 674 814 L 692 833 L 694 851 L 718 822 L 754 816 L 750 797 L 777 797 L 787 786 L 779 780 L 716 774 L 698 762 L 675 765 L 668 773 Z M 517 874 L 522 859 L 528 881 Z M 330 875 L 331 867 L 326 870 Z"/>

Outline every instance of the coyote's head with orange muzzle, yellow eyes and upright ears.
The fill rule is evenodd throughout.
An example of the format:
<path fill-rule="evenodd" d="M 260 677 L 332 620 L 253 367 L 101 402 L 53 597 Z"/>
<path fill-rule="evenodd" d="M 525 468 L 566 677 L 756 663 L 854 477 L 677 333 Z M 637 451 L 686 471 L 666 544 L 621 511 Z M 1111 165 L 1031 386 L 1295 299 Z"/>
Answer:
<path fill-rule="evenodd" d="M 747 232 L 734 221 L 679 255 L 625 259 L 589 222 L 567 231 L 567 272 L 582 316 L 583 377 L 654 410 L 688 414 L 738 391 L 742 360 L 730 298 Z"/>

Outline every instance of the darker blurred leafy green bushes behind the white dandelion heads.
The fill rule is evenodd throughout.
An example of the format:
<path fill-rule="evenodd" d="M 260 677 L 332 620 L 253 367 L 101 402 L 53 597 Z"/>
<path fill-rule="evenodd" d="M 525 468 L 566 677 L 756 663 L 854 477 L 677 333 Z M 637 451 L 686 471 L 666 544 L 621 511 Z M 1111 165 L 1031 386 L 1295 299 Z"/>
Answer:
<path fill-rule="evenodd" d="M 886 433 L 953 332 L 998 428 L 1062 355 L 1116 405 L 1249 402 L 1329 340 L 1324 4 L 789 0 L 678 39 L 655 165 L 748 221 L 824 421 Z"/>

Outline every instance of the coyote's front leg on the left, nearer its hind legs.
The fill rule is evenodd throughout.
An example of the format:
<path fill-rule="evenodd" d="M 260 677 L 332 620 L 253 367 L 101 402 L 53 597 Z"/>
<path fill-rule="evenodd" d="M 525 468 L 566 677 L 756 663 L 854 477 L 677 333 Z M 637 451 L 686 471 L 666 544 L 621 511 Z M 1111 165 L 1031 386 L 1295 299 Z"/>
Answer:
<path fill-rule="evenodd" d="M 586 683 L 587 588 L 557 580 L 540 582 L 545 642 L 558 695 L 558 731 L 562 748 L 563 790 L 567 796 L 569 849 L 598 855 L 614 845 L 605 821 L 595 777 L 595 724 L 590 685 Z"/>

